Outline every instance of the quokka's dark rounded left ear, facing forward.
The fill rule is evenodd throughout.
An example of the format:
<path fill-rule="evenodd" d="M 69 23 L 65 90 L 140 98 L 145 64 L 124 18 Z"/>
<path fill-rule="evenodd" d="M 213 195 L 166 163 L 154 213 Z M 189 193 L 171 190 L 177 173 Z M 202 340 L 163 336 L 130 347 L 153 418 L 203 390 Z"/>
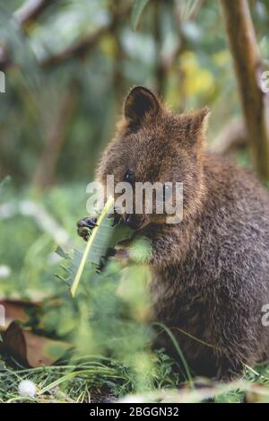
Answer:
<path fill-rule="evenodd" d="M 155 117 L 161 104 L 152 91 L 143 86 L 135 86 L 124 104 L 124 115 L 133 127 L 140 127 L 145 118 Z"/>

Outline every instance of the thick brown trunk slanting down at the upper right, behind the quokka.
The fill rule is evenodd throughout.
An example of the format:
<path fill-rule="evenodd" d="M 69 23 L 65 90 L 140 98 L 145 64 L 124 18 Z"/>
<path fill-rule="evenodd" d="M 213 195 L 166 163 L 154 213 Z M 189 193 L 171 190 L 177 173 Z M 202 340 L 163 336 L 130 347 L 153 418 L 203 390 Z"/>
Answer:
<path fill-rule="evenodd" d="M 268 95 L 261 89 L 262 63 L 246 0 L 221 0 L 239 96 L 256 171 L 269 179 Z"/>

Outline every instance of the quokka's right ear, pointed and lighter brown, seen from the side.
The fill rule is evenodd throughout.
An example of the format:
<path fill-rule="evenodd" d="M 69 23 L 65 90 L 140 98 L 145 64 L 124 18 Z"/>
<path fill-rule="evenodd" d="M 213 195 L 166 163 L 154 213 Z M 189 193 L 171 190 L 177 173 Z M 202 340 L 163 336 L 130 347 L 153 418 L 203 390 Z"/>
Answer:
<path fill-rule="evenodd" d="M 204 107 L 201 110 L 183 114 L 183 127 L 186 130 L 188 138 L 192 139 L 194 143 L 197 141 L 198 136 L 203 140 L 210 113 L 210 109 L 208 107 Z"/>

